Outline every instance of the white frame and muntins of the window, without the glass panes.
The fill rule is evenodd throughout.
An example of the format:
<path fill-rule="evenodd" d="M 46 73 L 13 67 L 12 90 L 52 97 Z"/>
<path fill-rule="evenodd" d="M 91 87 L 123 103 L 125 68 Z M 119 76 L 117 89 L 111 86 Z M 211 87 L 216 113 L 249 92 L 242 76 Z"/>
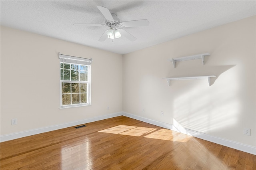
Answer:
<path fill-rule="evenodd" d="M 70 107 L 81 107 L 81 106 L 89 106 L 91 105 L 91 63 L 92 63 L 92 59 L 86 59 L 86 58 L 81 58 L 81 57 L 74 57 L 74 56 L 70 56 L 70 55 L 64 55 L 64 54 L 60 54 L 59 53 L 59 59 L 60 59 L 60 109 L 62 108 L 70 108 Z M 86 65 L 88 68 L 87 71 L 87 81 L 72 81 L 71 80 L 71 70 L 73 69 L 69 69 L 70 70 L 70 80 L 61 80 L 61 63 L 68 63 L 68 64 L 76 64 L 76 65 Z M 64 71 L 64 68 L 63 68 Z M 78 71 L 79 72 L 79 71 Z M 80 79 L 80 78 L 79 78 Z M 87 84 L 87 103 L 81 103 L 81 97 L 80 97 L 80 103 L 78 104 L 72 104 L 72 97 L 71 97 L 71 104 L 70 105 L 62 105 L 62 83 L 79 83 L 79 89 L 80 89 L 80 83 L 86 83 Z M 69 93 L 67 93 L 69 94 Z M 71 84 L 70 84 L 70 95 L 72 94 L 79 94 L 79 96 L 83 93 L 81 93 L 79 91 L 79 93 L 72 93 L 71 91 Z"/>

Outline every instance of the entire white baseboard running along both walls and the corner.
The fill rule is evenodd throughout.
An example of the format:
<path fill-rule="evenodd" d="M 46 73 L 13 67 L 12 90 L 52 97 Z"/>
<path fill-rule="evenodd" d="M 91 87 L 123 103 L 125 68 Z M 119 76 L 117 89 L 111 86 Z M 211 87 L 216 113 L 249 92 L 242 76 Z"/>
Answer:
<path fill-rule="evenodd" d="M 49 131 L 52 131 L 52 130 L 58 130 L 58 129 L 61 129 L 61 128 L 67 128 L 67 127 L 72 127 L 72 126 L 76 126 L 76 125 L 82 125 L 82 124 L 85 124 L 85 123 L 100 121 L 100 120 L 109 119 L 109 118 L 118 117 L 118 116 L 130 117 L 130 118 L 136 119 L 138 121 L 150 123 L 152 125 L 156 125 L 156 126 L 159 126 L 159 127 L 163 127 L 163 128 L 167 128 L 167 129 L 174 130 L 174 131 L 177 131 L 177 132 L 181 132 L 181 133 L 184 133 L 184 134 L 188 134 L 190 136 L 194 136 L 194 137 L 197 137 L 197 138 L 200 138 L 200 139 L 203 139 L 203 140 L 207 140 L 207 141 L 210 141 L 210 142 L 221 144 L 223 146 L 227 146 L 227 147 L 230 147 L 230 148 L 234 148 L 234 149 L 237 149 L 237 150 L 241 150 L 243 152 L 247 152 L 247 153 L 256 155 L 256 147 L 253 147 L 253 146 L 250 146 L 250 145 L 234 142 L 234 141 L 223 139 L 223 138 L 218 138 L 218 137 L 215 137 L 215 136 L 210 136 L 210 135 L 202 133 L 202 132 L 196 132 L 194 130 L 177 127 L 177 126 L 174 126 L 174 125 L 171 125 L 171 124 L 168 124 L 168 123 L 154 121 L 154 120 L 147 119 L 147 118 L 144 118 L 144 117 L 139 117 L 139 116 L 136 116 L 136 115 L 132 115 L 132 114 L 126 113 L 126 112 L 113 113 L 113 114 L 110 114 L 110 115 L 104 115 L 104 116 L 101 116 L 101 117 L 94 117 L 94 118 L 90 118 L 90 119 L 84 119 L 84 120 L 81 120 L 81 121 L 66 123 L 66 124 L 62 124 L 62 125 L 54 125 L 54 126 L 50 126 L 50 127 L 37 128 L 37 129 L 27 130 L 27 131 L 23 131 L 23 132 L 1 135 L 0 136 L 0 142 L 13 140 L 13 139 L 17 139 L 17 138 L 22 138 L 22 137 L 26 137 L 26 136 L 31 136 L 31 135 L 34 135 L 34 134 L 49 132 Z"/>

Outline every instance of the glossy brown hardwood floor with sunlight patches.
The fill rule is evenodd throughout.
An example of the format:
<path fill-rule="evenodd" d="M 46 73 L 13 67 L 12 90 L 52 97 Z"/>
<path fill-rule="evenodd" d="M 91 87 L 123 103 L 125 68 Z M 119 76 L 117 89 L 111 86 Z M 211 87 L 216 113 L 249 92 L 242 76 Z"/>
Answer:
<path fill-rule="evenodd" d="M 120 116 L 1 142 L 1 170 L 256 170 L 256 156 Z"/>

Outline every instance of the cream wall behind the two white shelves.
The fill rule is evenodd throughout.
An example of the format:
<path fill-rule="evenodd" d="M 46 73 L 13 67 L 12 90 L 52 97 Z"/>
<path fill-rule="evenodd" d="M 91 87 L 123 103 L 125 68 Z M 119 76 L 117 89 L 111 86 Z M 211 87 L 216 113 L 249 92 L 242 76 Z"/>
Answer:
<path fill-rule="evenodd" d="M 123 111 L 256 146 L 255 16 L 123 55 Z M 170 28 L 171 29 L 171 28 Z M 210 53 L 201 60 L 171 58 Z M 216 75 L 207 80 L 163 77 Z M 145 110 L 143 112 L 142 110 Z M 164 111 L 164 116 L 160 112 Z M 251 136 L 243 128 L 251 129 Z"/>

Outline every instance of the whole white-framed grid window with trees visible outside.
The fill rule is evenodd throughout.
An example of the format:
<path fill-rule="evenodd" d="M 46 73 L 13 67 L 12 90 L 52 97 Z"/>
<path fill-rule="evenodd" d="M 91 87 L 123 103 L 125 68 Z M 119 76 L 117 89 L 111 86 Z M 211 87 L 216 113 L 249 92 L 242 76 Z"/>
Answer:
<path fill-rule="evenodd" d="M 60 107 L 91 104 L 91 59 L 60 54 Z"/>

